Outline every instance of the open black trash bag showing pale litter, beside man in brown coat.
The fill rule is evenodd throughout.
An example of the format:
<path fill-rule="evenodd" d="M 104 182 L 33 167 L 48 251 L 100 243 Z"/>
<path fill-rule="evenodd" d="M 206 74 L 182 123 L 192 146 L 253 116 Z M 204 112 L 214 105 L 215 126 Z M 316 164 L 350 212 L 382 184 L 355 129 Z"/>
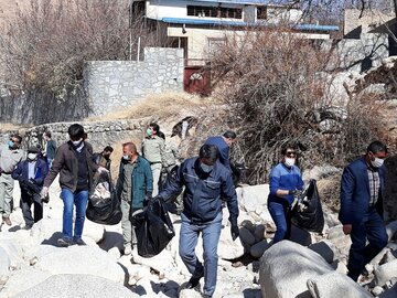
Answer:
<path fill-rule="evenodd" d="M 120 201 L 108 173 L 100 173 L 94 182 L 94 192 L 89 195 L 86 216 L 92 222 L 115 225 L 121 221 Z"/>

